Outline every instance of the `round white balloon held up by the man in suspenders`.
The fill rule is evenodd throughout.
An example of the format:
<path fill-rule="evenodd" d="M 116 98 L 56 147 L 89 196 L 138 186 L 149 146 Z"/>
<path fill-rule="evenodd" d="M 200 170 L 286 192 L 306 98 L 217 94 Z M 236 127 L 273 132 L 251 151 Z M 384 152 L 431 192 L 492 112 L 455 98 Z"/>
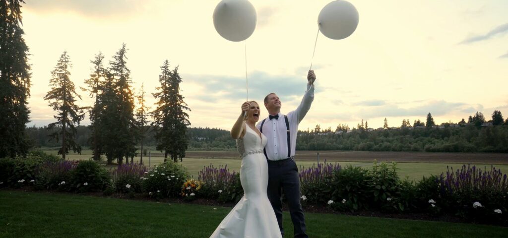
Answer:
<path fill-rule="evenodd" d="M 317 23 L 323 35 L 334 40 L 341 40 L 355 32 L 358 18 L 358 11 L 353 4 L 337 0 L 327 4 L 321 10 Z"/>

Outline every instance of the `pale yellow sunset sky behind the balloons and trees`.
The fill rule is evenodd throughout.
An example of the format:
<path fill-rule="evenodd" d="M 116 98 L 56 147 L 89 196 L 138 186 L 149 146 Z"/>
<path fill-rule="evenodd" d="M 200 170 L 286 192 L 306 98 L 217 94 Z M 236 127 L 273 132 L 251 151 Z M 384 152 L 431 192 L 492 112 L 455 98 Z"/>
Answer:
<path fill-rule="evenodd" d="M 141 84 L 151 109 L 161 65 L 178 66 L 192 127 L 231 129 L 247 99 L 271 92 L 282 113 L 295 110 L 312 60 L 315 96 L 299 129 L 356 125 L 400 126 L 403 119 L 458 122 L 494 110 L 508 117 L 508 1 L 359 1 L 356 31 L 343 40 L 317 37 L 317 16 L 330 1 L 250 0 L 257 26 L 245 42 L 216 32 L 211 0 L 26 0 L 22 8 L 29 47 L 29 126 L 54 121 L 43 97 L 51 71 L 67 51 L 71 80 L 84 86 L 90 60 L 105 63 L 122 43 L 133 88 Z M 246 55 L 245 55 L 246 53 Z M 245 63 L 245 60 L 247 63 Z M 245 67 L 247 65 L 247 67 Z M 78 106 L 93 99 L 78 90 Z M 268 116 L 262 106 L 261 118 Z M 86 117 L 82 125 L 89 124 Z"/>

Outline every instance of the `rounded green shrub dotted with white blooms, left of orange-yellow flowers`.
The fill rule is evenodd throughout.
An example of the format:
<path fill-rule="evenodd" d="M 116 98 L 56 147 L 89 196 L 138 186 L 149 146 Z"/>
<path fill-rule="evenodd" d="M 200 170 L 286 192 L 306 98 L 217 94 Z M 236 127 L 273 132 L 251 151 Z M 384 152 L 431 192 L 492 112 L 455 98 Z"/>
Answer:
<path fill-rule="evenodd" d="M 188 178 L 187 169 L 181 164 L 167 161 L 155 165 L 143 177 L 143 191 L 150 197 L 181 197 L 181 189 Z"/>

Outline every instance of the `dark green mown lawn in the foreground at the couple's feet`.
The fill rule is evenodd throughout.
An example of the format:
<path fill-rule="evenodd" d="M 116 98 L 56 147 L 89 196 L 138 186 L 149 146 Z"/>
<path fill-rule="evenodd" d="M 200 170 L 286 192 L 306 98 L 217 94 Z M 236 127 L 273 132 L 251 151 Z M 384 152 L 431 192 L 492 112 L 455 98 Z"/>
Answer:
<path fill-rule="evenodd" d="M 0 237 L 209 237 L 231 208 L 0 190 Z M 284 227 L 293 236 L 290 216 Z M 306 214 L 310 237 L 505 237 L 508 227 Z"/>

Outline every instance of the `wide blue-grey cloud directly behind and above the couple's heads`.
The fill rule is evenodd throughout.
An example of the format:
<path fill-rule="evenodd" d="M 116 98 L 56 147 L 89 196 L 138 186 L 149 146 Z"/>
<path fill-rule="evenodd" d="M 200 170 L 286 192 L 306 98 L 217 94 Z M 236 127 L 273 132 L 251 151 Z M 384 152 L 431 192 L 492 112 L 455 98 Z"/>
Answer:
<path fill-rule="evenodd" d="M 246 99 L 244 77 L 182 75 L 189 83 L 203 86 L 207 93 L 193 95 L 193 98 L 215 103 L 219 98 L 230 100 Z M 269 75 L 265 72 L 253 72 L 248 75 L 249 100 L 262 100 L 268 93 L 275 92 L 282 103 L 300 98 L 306 90 L 307 80 L 301 76 Z"/>

